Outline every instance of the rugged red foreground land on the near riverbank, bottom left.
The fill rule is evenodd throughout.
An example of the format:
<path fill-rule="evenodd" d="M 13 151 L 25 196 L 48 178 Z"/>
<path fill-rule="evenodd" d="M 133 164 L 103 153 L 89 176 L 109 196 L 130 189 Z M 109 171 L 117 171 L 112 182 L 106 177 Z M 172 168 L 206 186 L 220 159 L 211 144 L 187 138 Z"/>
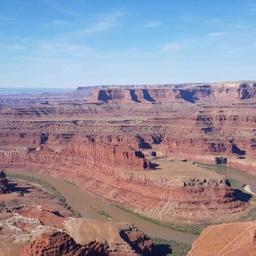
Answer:
<path fill-rule="evenodd" d="M 134 224 L 81 218 L 35 182 L 6 179 L 8 193 L 0 195 L 1 256 L 150 256 L 154 252 L 154 242 Z"/>

